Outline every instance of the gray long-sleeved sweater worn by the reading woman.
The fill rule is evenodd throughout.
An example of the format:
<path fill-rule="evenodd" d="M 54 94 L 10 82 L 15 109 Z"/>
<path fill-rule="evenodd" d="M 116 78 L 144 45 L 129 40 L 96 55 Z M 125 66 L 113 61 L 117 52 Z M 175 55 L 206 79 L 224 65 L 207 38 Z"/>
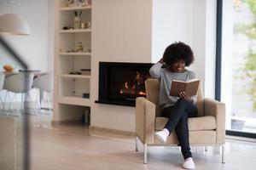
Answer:
<path fill-rule="evenodd" d="M 160 81 L 159 105 L 162 111 L 164 108 L 174 105 L 177 99 L 179 99 L 179 97 L 170 96 L 172 80 L 187 82 L 195 78 L 195 72 L 188 70 L 184 72 L 172 72 L 168 71 L 167 68 L 162 69 L 161 66 L 162 64 L 160 62 L 154 64 L 150 68 L 149 73 L 151 77 L 158 78 Z M 193 104 L 195 105 L 197 96 L 191 96 L 191 99 L 193 99 Z"/>

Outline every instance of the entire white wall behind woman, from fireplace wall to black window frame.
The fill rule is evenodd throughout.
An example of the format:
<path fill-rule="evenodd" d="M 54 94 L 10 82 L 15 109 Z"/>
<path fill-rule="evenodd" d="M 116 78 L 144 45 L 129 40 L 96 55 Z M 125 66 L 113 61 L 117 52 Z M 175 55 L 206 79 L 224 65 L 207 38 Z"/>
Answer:
<path fill-rule="evenodd" d="M 195 54 L 189 70 L 201 79 L 205 96 L 214 98 L 216 0 L 153 1 L 152 18 L 152 62 L 172 42 L 189 44 Z"/>

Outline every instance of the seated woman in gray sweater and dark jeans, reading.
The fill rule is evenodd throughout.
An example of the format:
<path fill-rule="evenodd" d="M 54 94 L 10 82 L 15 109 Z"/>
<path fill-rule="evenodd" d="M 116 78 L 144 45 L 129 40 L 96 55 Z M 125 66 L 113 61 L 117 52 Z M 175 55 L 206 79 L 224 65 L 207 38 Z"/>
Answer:
<path fill-rule="evenodd" d="M 155 135 L 161 142 L 166 143 L 170 133 L 176 131 L 184 158 L 182 167 L 187 169 L 195 168 L 189 147 L 188 118 L 197 116 L 196 96 L 189 96 L 184 92 L 180 92 L 178 97 L 171 96 L 170 89 L 172 80 L 187 82 L 195 78 L 195 72 L 185 69 L 185 66 L 189 66 L 193 61 L 191 48 L 183 42 L 174 42 L 166 48 L 160 61 L 149 70 L 151 77 L 160 81 L 161 116 L 169 118 L 164 129 Z"/>

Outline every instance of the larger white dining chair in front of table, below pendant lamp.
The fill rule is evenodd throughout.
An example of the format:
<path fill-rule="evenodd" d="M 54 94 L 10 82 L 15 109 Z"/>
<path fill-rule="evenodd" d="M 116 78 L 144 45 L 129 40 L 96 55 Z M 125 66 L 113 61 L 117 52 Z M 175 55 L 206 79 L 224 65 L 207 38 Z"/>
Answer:
<path fill-rule="evenodd" d="M 34 74 L 32 72 L 19 72 L 19 73 L 10 75 L 8 77 L 5 77 L 3 89 L 7 90 L 7 93 L 5 95 L 3 109 L 5 109 L 6 99 L 7 99 L 7 96 L 9 96 L 10 92 L 15 93 L 15 95 L 12 99 L 10 99 L 9 97 L 10 99 L 9 106 L 11 106 L 12 103 L 14 102 L 16 94 L 21 94 L 21 110 L 23 108 L 22 105 L 24 105 L 24 97 L 22 94 L 25 94 L 25 100 L 27 100 L 26 99 L 26 96 L 27 96 L 28 99 L 32 101 L 31 96 L 28 92 L 32 88 L 33 77 L 34 77 Z M 18 113 L 19 111 L 17 107 L 17 114 L 15 114 L 15 116 L 18 116 L 19 115 Z"/>

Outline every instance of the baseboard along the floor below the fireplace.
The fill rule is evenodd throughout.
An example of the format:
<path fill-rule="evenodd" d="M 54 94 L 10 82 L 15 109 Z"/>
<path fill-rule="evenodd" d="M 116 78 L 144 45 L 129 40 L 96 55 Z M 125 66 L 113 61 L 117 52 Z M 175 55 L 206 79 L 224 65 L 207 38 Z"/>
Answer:
<path fill-rule="evenodd" d="M 103 132 L 103 133 L 113 133 L 113 134 L 119 134 L 119 135 L 125 135 L 125 136 L 136 136 L 136 133 L 133 133 L 133 132 L 121 131 L 121 130 L 105 128 L 105 127 L 90 126 L 89 131 L 90 131 L 90 133 Z"/>

